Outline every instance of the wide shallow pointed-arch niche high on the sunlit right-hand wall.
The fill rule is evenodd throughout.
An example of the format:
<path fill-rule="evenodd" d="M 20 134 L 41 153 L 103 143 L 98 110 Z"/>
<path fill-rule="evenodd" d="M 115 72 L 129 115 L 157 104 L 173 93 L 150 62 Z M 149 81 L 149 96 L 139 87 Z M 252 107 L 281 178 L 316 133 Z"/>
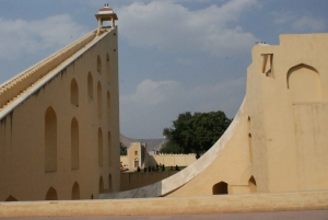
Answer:
<path fill-rule="evenodd" d="M 286 78 L 293 102 L 321 101 L 320 76 L 315 68 L 297 65 L 288 71 Z"/>

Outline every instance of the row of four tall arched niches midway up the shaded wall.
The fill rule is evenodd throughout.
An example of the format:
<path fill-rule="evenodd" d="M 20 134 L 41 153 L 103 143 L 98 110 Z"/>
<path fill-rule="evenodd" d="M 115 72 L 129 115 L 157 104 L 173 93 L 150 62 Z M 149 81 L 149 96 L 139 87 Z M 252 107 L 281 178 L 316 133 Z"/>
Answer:
<path fill-rule="evenodd" d="M 51 106 L 45 114 L 45 172 L 57 171 L 57 115 Z M 97 132 L 98 165 L 103 166 L 103 130 Z M 107 132 L 107 161 L 112 165 L 112 135 Z M 75 117 L 71 120 L 71 170 L 79 170 L 80 164 L 80 130 Z"/>

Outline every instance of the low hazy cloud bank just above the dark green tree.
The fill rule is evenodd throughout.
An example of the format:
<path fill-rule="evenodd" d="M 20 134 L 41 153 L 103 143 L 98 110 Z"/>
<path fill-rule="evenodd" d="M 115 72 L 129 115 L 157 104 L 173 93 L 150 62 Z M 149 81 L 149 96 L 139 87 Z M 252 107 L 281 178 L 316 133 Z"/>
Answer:
<path fill-rule="evenodd" d="M 238 78 L 186 88 L 177 81 L 147 79 L 134 93 L 120 95 L 121 132 L 136 138 L 159 138 L 163 129 L 185 112 L 221 109 L 234 117 L 245 95 L 245 81 Z"/>

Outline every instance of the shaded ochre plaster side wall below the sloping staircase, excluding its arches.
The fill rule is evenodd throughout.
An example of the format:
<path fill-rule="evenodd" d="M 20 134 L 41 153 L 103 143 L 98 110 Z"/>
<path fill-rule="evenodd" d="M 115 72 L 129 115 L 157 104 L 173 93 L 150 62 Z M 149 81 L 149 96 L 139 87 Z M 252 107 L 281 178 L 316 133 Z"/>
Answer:
<path fill-rule="evenodd" d="M 0 200 L 9 196 L 17 200 L 44 200 L 50 187 L 56 190 L 58 199 L 71 199 L 74 183 L 79 185 L 81 199 L 97 198 L 99 188 L 103 188 L 99 187 L 101 178 L 107 192 L 109 188 L 113 192 L 119 190 L 117 28 L 104 35 L 1 119 Z M 97 56 L 102 60 L 102 72 L 97 72 Z M 110 68 L 110 83 L 106 79 L 107 57 L 110 61 L 107 66 Z M 93 78 L 93 97 L 87 93 L 89 72 Z M 78 84 L 78 105 L 71 103 L 72 80 Z M 97 116 L 98 83 L 102 85 L 101 118 Z M 110 93 L 109 120 L 106 118 L 107 92 Z M 57 123 L 57 165 L 54 172 L 46 172 L 45 169 L 45 114 L 49 107 L 54 109 Z M 79 169 L 71 166 L 73 119 L 78 123 Z M 99 128 L 103 134 L 102 166 L 98 165 Z"/>

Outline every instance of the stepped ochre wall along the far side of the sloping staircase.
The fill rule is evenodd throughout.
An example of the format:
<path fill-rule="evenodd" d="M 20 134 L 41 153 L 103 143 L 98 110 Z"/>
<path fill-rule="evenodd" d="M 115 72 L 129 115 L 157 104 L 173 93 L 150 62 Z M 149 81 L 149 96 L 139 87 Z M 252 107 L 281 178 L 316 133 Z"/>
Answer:
<path fill-rule="evenodd" d="M 96 31 L 89 33 L 82 38 L 78 39 L 73 44 L 65 47 L 63 49 L 55 53 L 48 58 L 34 65 L 30 69 L 15 76 L 13 79 L 0 85 L 0 111 L 9 102 L 14 100 L 22 92 L 34 85 L 39 79 L 45 77 L 49 71 L 61 65 L 66 59 L 72 56 L 74 53 L 83 48 L 86 44 L 92 42 L 96 36 Z"/>

